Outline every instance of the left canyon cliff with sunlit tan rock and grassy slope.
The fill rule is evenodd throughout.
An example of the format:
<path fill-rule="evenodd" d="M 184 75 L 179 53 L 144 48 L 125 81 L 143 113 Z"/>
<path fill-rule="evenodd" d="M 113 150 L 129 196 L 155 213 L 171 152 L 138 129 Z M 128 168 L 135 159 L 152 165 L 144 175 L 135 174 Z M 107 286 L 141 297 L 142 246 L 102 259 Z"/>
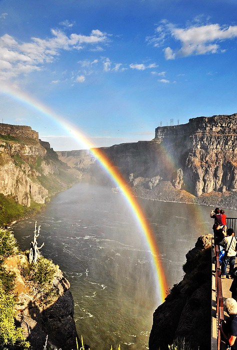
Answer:
<path fill-rule="evenodd" d="M 29 126 L 0 124 L 0 193 L 21 205 L 46 197 L 75 182 L 48 142 Z M 79 172 L 76 172 L 79 177 Z M 74 177 L 74 179 L 72 179 Z M 58 187 L 58 188 L 56 188 Z"/>

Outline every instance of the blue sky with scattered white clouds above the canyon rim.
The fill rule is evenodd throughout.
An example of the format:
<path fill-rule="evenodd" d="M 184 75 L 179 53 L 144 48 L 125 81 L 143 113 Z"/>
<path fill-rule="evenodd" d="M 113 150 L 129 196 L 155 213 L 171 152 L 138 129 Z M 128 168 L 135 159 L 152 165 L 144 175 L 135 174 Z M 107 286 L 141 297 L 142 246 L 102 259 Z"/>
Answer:
<path fill-rule="evenodd" d="M 0 0 L 0 122 L 72 150 L 235 113 L 236 14 L 236 0 Z"/>

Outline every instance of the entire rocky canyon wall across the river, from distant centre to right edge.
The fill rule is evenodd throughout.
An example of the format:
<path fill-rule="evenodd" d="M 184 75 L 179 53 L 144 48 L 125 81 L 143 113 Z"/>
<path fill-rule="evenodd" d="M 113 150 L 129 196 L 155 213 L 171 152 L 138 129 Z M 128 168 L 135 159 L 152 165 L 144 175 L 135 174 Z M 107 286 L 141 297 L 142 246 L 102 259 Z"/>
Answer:
<path fill-rule="evenodd" d="M 151 141 L 101 149 L 135 195 L 236 208 L 236 117 L 235 113 L 192 118 L 187 124 L 157 127 Z M 90 153 L 71 151 L 58 155 L 69 166 L 104 181 Z"/>

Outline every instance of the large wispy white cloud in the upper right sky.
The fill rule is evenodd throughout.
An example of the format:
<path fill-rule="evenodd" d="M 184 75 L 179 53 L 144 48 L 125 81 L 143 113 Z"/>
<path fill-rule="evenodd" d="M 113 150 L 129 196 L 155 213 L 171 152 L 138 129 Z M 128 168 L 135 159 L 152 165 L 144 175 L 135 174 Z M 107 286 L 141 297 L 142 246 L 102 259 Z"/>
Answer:
<path fill-rule="evenodd" d="M 197 20 L 198 19 L 198 20 Z M 180 28 L 166 20 L 156 27 L 153 36 L 147 36 L 146 41 L 154 47 L 165 44 L 168 38 L 180 42 L 180 48 L 169 46 L 163 49 L 166 59 L 198 54 L 218 53 L 225 49 L 220 48 L 220 42 L 237 37 L 237 25 L 221 26 L 220 24 L 201 24 L 201 17 L 195 18 L 195 24 Z"/>

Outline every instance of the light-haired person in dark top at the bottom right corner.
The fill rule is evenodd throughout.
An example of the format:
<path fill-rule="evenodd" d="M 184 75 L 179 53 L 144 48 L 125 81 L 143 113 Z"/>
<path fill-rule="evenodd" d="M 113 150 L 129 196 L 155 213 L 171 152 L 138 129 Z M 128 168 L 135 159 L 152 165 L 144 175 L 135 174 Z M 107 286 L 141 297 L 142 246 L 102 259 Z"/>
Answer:
<path fill-rule="evenodd" d="M 219 329 L 226 345 L 231 346 L 231 350 L 237 350 L 237 301 L 229 297 L 224 306 L 229 317 L 226 322 L 221 322 Z"/>

